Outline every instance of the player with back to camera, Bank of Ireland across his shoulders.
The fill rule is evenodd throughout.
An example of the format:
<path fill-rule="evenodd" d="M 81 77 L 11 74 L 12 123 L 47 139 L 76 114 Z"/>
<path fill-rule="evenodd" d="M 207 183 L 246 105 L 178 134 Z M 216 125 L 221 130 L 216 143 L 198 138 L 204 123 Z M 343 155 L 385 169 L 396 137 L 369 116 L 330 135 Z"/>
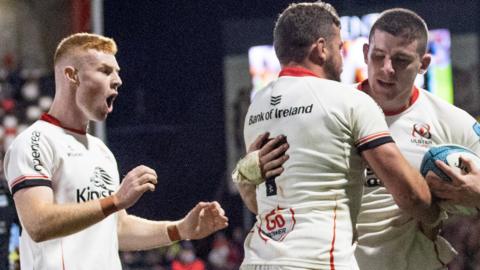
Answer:
<path fill-rule="evenodd" d="M 342 41 L 331 5 L 290 5 L 276 22 L 274 46 L 282 71 L 255 96 L 245 142 L 253 142 L 252 150 L 268 136 L 257 134 L 268 131 L 277 141 L 284 134 L 289 159 L 282 175 L 259 185 L 249 184 L 248 171 L 236 173 L 242 198 L 257 213 L 241 268 L 356 269 L 362 158 L 388 179 L 396 202 L 426 222 L 437 217 L 429 209 L 430 192 L 393 143 L 375 102 L 338 82 Z M 281 152 L 286 146 L 280 145 Z"/>

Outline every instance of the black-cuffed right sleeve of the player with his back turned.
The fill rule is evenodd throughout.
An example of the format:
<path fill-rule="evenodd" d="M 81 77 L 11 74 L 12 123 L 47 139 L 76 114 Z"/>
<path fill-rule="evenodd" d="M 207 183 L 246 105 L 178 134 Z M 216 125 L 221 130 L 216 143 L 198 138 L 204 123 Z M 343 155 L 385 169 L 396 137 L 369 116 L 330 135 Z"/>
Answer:
<path fill-rule="evenodd" d="M 351 121 L 358 152 L 393 142 L 385 116 L 378 104 L 365 93 L 356 93 Z"/>

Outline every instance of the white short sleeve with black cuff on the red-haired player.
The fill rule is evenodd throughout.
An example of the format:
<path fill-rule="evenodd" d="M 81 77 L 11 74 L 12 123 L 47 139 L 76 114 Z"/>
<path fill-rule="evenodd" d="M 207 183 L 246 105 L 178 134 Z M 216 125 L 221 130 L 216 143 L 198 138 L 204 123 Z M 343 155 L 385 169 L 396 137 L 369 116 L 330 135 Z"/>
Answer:
<path fill-rule="evenodd" d="M 33 186 L 52 186 L 51 147 L 41 131 L 27 129 L 5 155 L 5 176 L 10 192 Z"/>

